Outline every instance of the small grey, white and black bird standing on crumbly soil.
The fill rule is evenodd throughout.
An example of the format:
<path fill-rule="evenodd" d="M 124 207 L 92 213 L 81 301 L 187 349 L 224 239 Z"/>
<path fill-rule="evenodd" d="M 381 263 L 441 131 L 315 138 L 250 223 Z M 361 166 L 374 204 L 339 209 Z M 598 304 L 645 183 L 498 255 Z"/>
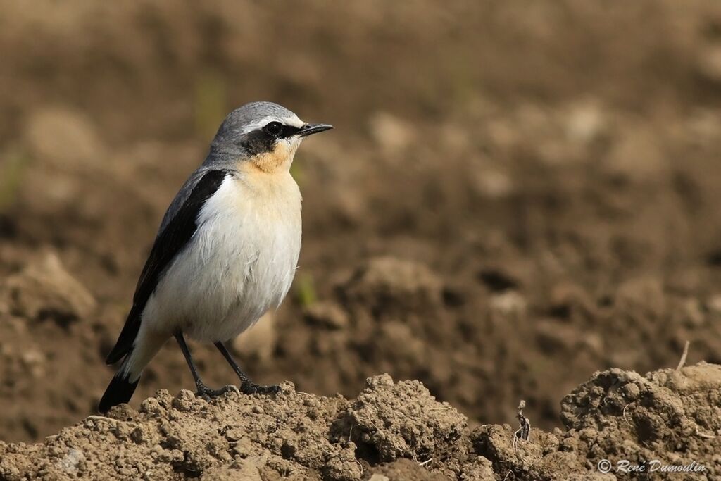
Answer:
<path fill-rule="evenodd" d="M 171 337 L 180 346 L 196 394 L 209 400 L 185 336 L 213 343 L 245 394 L 275 394 L 255 384 L 226 343 L 255 325 L 288 294 L 301 249 L 301 193 L 290 168 L 308 136 L 333 128 L 305 123 L 273 102 L 251 102 L 227 115 L 203 164 L 165 213 L 133 304 L 107 364 L 120 366 L 99 412 L 129 402 L 143 369 Z"/>

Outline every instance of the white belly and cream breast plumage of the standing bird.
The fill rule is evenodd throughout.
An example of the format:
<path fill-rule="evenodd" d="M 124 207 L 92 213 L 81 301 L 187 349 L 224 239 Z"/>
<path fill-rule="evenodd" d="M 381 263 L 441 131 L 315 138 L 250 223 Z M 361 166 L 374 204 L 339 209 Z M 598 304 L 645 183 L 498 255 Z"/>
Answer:
<path fill-rule="evenodd" d="M 301 248 L 301 194 L 288 172 L 273 180 L 227 175 L 198 215 L 198 230 L 143 311 L 123 371 L 131 381 L 177 329 L 225 341 L 288 294 Z"/>

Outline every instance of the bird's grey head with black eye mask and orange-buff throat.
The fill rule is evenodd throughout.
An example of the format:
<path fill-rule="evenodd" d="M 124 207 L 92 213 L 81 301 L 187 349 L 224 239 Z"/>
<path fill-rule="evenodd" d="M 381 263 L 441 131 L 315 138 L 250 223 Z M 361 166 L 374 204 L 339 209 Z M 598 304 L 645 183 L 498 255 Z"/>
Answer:
<path fill-rule="evenodd" d="M 305 123 L 273 102 L 252 102 L 229 113 L 213 138 L 211 152 L 237 168 L 288 170 L 303 139 L 330 128 L 325 123 Z"/>

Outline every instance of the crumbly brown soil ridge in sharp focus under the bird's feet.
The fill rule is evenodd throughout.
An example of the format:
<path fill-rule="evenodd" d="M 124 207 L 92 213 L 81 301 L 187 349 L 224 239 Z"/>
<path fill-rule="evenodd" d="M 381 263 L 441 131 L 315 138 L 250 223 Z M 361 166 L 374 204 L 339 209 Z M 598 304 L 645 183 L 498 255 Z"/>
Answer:
<path fill-rule="evenodd" d="M 230 392 L 211 403 L 161 390 L 138 411 L 120 405 L 42 444 L 0 442 L 0 478 L 603 480 L 625 459 L 657 466 L 658 477 L 717 479 L 720 392 L 712 364 L 602 371 L 565 397 L 565 431 L 533 430 L 524 441 L 509 425 L 469 428 L 418 381 L 388 375 L 368 379 L 355 400 L 290 383 L 276 397 Z M 603 460 L 611 475 L 599 471 Z M 658 471 L 694 463 L 694 472 Z"/>

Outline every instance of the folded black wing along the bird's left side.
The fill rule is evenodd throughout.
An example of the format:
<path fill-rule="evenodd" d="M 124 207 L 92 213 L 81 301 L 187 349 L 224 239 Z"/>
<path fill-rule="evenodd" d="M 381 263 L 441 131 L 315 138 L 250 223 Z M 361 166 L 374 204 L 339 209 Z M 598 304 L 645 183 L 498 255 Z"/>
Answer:
<path fill-rule="evenodd" d="M 120 361 L 133 348 L 145 304 L 153 294 L 164 270 L 195 234 L 195 230 L 198 229 L 196 219 L 200 208 L 203 207 L 205 200 L 208 200 L 218 190 L 225 176 L 226 171 L 224 170 L 205 172 L 193 187 L 182 207 L 156 237 L 153 249 L 150 251 L 143 272 L 138 279 L 136 293 L 133 296 L 133 307 L 128 314 L 128 319 L 125 319 L 125 325 L 120 332 L 118 342 L 115 343 L 115 348 L 112 348 L 105 359 L 106 363 L 112 364 Z"/>

